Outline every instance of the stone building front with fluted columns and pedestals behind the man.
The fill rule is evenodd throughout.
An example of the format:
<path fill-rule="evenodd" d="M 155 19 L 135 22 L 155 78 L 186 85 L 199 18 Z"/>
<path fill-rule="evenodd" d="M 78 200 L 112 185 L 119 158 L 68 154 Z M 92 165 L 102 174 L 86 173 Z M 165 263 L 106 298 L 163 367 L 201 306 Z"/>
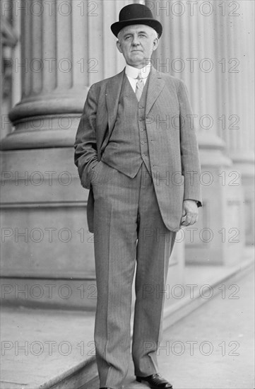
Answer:
<path fill-rule="evenodd" d="M 253 243 L 254 1 L 3 0 L 1 277 L 67 294 L 83 281 L 88 296 L 52 301 L 49 289 L 36 304 L 95 309 L 73 141 L 88 88 L 124 67 L 109 26 L 131 2 L 162 22 L 153 64 L 186 83 L 201 156 L 203 208 L 177 235 L 169 282 L 182 284 L 188 264 L 237 264 Z"/>

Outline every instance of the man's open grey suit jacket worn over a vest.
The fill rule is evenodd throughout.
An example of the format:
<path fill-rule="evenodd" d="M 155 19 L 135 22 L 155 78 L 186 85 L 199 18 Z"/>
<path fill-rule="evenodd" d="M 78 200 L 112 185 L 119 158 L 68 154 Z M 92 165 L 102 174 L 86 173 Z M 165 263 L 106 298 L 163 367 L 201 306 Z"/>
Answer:
<path fill-rule="evenodd" d="M 75 141 L 75 163 L 81 185 L 90 190 L 87 216 L 93 232 L 93 168 L 112 134 L 124 70 L 93 84 L 88 91 Z M 180 228 L 182 203 L 201 205 L 200 163 L 192 111 L 183 81 L 153 67 L 148 77 L 145 123 L 150 166 L 162 219 L 172 231 Z"/>

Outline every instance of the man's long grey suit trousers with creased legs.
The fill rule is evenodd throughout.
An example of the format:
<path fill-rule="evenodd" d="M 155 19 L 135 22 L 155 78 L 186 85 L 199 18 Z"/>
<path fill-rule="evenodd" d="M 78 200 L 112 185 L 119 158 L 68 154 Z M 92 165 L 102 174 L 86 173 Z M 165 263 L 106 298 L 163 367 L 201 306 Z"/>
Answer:
<path fill-rule="evenodd" d="M 164 293 L 159 291 L 165 288 L 176 233 L 162 221 L 153 180 L 144 163 L 135 178 L 102 161 L 93 173 L 95 352 L 100 387 L 119 388 L 129 368 L 135 269 L 135 375 L 158 372 L 156 354 L 164 303 Z"/>

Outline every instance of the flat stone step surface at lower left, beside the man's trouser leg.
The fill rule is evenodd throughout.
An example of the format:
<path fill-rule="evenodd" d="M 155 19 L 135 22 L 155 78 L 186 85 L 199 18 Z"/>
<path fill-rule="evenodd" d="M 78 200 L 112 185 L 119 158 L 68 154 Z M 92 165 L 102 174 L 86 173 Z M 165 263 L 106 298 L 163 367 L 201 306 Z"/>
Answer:
<path fill-rule="evenodd" d="M 95 354 L 93 332 L 93 313 L 1 308 L 1 389 L 35 389 L 76 371 Z"/>

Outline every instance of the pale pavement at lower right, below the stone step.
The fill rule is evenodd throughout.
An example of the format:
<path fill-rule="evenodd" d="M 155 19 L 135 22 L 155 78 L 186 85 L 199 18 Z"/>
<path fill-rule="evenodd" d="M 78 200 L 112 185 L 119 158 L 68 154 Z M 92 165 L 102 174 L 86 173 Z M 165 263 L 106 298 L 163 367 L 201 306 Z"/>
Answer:
<path fill-rule="evenodd" d="M 254 273 L 165 330 L 158 362 L 174 389 L 254 389 Z M 148 388 L 132 364 L 124 388 Z"/>

